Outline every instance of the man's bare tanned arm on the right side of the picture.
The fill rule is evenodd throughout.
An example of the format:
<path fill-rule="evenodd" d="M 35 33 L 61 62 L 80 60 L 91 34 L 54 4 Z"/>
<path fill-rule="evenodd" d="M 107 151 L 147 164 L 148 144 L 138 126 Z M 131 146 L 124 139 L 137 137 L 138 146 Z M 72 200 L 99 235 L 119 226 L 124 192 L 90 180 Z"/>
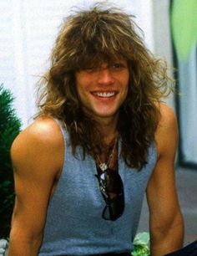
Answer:
<path fill-rule="evenodd" d="M 161 105 L 160 108 L 162 117 L 155 137 L 158 161 L 147 188 L 152 256 L 181 248 L 184 238 L 184 223 L 174 181 L 177 122 L 169 107 Z"/>

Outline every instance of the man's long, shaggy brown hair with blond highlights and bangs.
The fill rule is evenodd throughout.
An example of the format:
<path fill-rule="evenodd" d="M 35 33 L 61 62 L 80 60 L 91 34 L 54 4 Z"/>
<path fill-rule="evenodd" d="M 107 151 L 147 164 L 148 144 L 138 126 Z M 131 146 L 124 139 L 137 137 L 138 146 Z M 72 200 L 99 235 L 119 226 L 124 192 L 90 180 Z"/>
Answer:
<path fill-rule="evenodd" d="M 167 65 L 155 59 L 139 35 L 134 17 L 118 8 L 99 5 L 80 10 L 63 21 L 50 58 L 50 68 L 39 83 L 38 115 L 63 120 L 73 155 L 101 151 L 102 138 L 95 120 L 83 112 L 76 91 L 80 69 L 119 57 L 129 64 L 129 92 L 119 110 L 117 129 L 121 154 L 130 167 L 147 163 L 148 148 L 159 124 L 159 102 L 169 94 Z"/>

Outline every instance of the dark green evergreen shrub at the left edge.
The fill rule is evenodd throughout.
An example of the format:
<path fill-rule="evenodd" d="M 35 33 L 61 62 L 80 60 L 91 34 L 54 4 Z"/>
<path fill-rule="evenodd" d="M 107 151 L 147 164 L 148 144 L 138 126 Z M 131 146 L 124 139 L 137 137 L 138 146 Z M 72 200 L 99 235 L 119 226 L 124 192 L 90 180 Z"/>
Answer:
<path fill-rule="evenodd" d="M 13 109 L 13 95 L 0 85 L 0 238 L 7 238 L 13 212 L 14 188 L 10 148 L 18 135 L 21 121 Z"/>

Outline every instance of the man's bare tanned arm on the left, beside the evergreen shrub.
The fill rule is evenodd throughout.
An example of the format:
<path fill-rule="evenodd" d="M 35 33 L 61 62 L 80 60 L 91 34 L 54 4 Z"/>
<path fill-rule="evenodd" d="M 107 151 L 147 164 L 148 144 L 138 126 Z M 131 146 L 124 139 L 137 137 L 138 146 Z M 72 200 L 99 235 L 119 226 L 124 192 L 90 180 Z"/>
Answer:
<path fill-rule="evenodd" d="M 37 120 L 13 142 L 16 201 L 9 256 L 36 256 L 43 238 L 48 200 L 63 159 L 63 140 L 54 120 Z"/>

